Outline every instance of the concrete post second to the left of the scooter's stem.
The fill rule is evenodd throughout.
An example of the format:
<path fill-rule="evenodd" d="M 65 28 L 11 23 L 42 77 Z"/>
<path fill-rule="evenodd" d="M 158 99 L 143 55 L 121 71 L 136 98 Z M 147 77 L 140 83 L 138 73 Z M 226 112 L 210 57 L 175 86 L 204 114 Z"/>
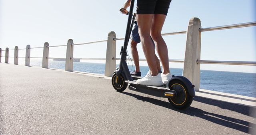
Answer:
<path fill-rule="evenodd" d="M 66 64 L 65 64 L 66 71 L 73 71 L 73 59 L 71 58 L 73 58 L 74 48 L 72 44 L 74 44 L 73 40 L 69 39 L 67 44 L 67 53 L 66 53 Z"/>

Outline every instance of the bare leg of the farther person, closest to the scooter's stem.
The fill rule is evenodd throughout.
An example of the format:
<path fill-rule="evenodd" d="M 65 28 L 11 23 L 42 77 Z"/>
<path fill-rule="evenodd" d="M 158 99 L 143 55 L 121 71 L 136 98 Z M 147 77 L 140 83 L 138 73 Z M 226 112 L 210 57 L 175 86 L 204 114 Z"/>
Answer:
<path fill-rule="evenodd" d="M 131 52 L 132 52 L 132 58 L 133 62 L 135 65 L 135 71 L 139 72 L 140 71 L 140 64 L 139 64 L 139 55 L 138 55 L 138 50 L 137 50 L 137 42 L 134 40 L 131 40 Z"/>

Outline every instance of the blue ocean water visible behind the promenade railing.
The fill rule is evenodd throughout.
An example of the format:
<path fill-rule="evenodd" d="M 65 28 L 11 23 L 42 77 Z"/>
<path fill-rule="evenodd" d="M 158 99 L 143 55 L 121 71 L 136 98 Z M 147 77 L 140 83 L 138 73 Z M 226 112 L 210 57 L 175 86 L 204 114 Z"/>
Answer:
<path fill-rule="evenodd" d="M 31 60 L 30 66 L 42 67 L 42 60 Z M 116 65 L 118 67 L 118 65 Z M 130 71 L 135 67 L 128 66 Z M 49 60 L 49 68 L 65 69 L 65 62 Z M 140 66 L 142 77 L 149 68 Z M 104 74 L 105 64 L 74 62 L 73 71 Z M 182 75 L 182 69 L 170 68 L 174 75 Z M 200 89 L 256 97 L 256 73 L 200 70 Z"/>

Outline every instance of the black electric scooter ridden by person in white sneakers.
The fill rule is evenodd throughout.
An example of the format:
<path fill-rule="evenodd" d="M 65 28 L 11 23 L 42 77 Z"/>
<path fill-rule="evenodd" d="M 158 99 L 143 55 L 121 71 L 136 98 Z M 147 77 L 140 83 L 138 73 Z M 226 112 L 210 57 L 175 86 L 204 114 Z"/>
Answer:
<path fill-rule="evenodd" d="M 124 91 L 127 87 L 140 93 L 153 95 L 156 97 L 168 98 L 170 104 L 177 109 L 185 109 L 190 106 L 195 96 L 194 85 L 184 76 L 174 76 L 163 86 L 140 85 L 136 83 L 138 77 L 132 77 L 126 63 L 127 47 L 132 32 L 132 27 L 136 14 L 132 15 L 134 0 L 131 0 L 130 11 L 124 46 L 122 46 L 120 55 L 121 60 L 119 67 L 116 68 L 112 76 L 112 85 L 116 91 Z M 134 80 L 135 79 L 135 80 Z"/>

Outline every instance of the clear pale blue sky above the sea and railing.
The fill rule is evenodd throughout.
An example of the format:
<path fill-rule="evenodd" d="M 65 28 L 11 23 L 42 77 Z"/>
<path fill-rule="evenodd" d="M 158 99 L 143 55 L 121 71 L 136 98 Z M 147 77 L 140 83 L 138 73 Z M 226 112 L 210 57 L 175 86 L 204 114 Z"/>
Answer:
<path fill-rule="evenodd" d="M 44 42 L 57 46 L 70 38 L 74 44 L 106 40 L 110 31 L 116 32 L 117 38 L 124 38 L 128 16 L 119 12 L 123 3 L 124 0 L 0 0 L 0 48 L 26 48 L 27 44 L 42 47 Z M 186 30 L 192 17 L 200 18 L 202 28 L 207 28 L 255 22 L 255 13 L 256 0 L 172 0 L 162 33 Z M 201 60 L 255 62 L 255 37 L 256 26 L 202 32 Z M 186 34 L 164 39 L 169 59 L 183 60 Z M 117 41 L 117 58 L 122 45 L 123 40 Z M 42 50 L 31 50 L 31 57 L 42 57 Z M 140 58 L 145 58 L 140 44 L 138 52 Z M 13 51 L 9 53 L 14 55 Z M 20 50 L 19 56 L 24 55 L 25 50 Z M 49 57 L 65 55 L 66 47 L 50 48 Z M 74 57 L 105 58 L 106 42 L 74 46 Z M 170 63 L 170 67 L 182 68 L 183 64 Z M 201 64 L 201 69 L 256 73 L 256 66 Z"/>

